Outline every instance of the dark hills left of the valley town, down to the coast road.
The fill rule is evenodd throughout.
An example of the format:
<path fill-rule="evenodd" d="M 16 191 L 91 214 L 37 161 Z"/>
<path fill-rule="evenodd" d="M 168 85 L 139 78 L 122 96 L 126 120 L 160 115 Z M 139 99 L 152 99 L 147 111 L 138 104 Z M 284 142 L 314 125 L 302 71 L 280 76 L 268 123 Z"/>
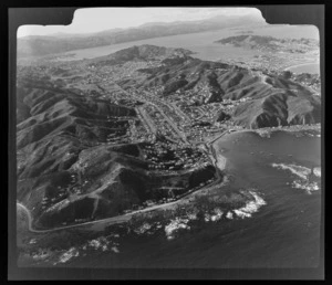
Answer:
<path fill-rule="evenodd" d="M 149 172 L 141 145 L 126 140 L 128 119 L 136 117 L 132 108 L 65 89 L 18 91 L 18 114 L 24 116 L 17 125 L 17 198 L 32 211 L 35 226 L 117 215 L 169 198 L 168 190 L 155 189 L 176 181 L 187 191 L 201 182 L 197 177 L 215 175 L 211 166 L 177 179 Z M 108 144 L 110 135 L 118 140 Z"/>

